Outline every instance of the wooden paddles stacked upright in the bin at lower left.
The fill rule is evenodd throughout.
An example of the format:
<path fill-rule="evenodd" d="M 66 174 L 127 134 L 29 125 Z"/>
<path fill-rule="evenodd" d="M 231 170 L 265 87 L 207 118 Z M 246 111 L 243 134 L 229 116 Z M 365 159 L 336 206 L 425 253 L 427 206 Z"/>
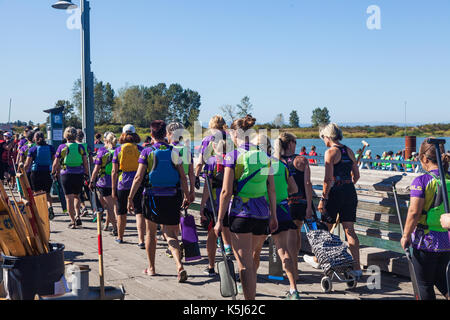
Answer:
<path fill-rule="evenodd" d="M 11 192 L 9 198 L 0 184 L 0 249 L 5 255 L 24 257 L 49 252 L 49 237 L 23 168 L 17 173 L 23 190 L 22 206 Z M 23 207 L 23 210 L 21 210 Z"/>

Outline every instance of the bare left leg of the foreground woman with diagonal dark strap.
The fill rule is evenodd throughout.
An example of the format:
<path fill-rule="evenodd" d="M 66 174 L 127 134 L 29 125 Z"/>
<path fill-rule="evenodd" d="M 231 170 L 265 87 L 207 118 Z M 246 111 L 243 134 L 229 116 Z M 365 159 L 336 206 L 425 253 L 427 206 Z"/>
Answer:
<path fill-rule="evenodd" d="M 256 272 L 253 261 L 253 235 L 231 233 L 231 243 L 236 258 L 245 300 L 255 300 Z"/>

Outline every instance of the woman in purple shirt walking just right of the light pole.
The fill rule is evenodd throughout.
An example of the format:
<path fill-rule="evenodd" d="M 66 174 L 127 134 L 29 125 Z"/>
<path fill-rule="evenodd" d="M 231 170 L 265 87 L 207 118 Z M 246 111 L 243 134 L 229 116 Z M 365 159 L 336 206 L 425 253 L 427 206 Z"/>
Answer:
<path fill-rule="evenodd" d="M 97 150 L 97 155 L 94 160 L 94 171 L 92 172 L 89 187 L 91 190 L 98 189 L 102 202 L 105 204 L 108 212 L 105 222 L 105 231 L 108 230 L 109 223 L 112 224 L 113 236 L 117 237 L 117 203 L 112 197 L 112 159 L 117 144 L 116 135 L 112 132 L 107 132 L 104 137 L 104 147 Z M 95 187 L 94 187 L 95 186 Z"/>

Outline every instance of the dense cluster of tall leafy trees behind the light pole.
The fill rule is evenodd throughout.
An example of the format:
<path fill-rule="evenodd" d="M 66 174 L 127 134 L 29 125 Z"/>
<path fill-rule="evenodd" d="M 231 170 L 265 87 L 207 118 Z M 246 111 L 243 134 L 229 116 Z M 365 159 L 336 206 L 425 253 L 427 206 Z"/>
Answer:
<path fill-rule="evenodd" d="M 200 114 L 200 94 L 179 84 L 125 86 L 116 93 L 109 82 L 94 78 L 94 124 L 132 123 L 146 127 L 155 119 L 178 121 L 189 128 Z M 58 100 L 64 107 L 64 126 L 81 127 L 81 80 L 74 82 L 72 100 Z"/>

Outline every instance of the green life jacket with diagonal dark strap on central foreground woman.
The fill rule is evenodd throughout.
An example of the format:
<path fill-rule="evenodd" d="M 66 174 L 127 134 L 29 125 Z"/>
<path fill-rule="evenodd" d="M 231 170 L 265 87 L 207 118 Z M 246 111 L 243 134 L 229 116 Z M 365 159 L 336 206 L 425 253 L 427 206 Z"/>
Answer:
<path fill-rule="evenodd" d="M 234 194 L 247 199 L 265 196 L 268 174 L 261 171 L 269 168 L 267 154 L 257 147 L 239 151 L 241 154 L 236 161 Z"/>

